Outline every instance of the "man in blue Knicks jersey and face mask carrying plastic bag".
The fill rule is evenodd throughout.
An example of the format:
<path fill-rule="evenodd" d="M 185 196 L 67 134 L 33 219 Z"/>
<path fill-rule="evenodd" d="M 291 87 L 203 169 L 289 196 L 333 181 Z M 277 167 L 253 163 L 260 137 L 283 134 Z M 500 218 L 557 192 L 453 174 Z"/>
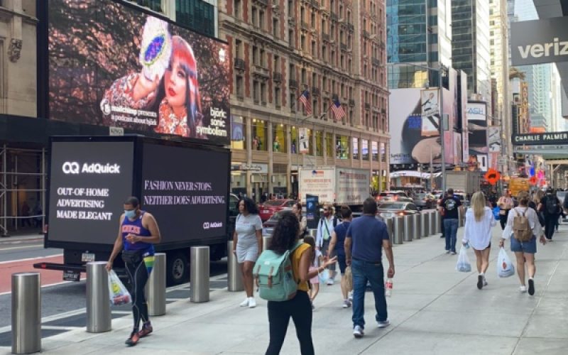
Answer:
<path fill-rule="evenodd" d="M 124 202 L 124 213 L 120 217 L 119 226 L 119 235 L 114 241 L 114 248 L 107 262 L 107 271 L 111 271 L 114 259 L 122 252 L 122 260 L 132 285 L 134 317 L 134 327 L 125 344 L 134 346 L 140 338 L 153 332 L 144 289 L 154 266 L 154 244 L 159 244 L 162 237 L 158 223 L 152 214 L 140 209 L 137 197 L 129 197 Z M 141 321 L 142 329 L 138 331 Z"/>

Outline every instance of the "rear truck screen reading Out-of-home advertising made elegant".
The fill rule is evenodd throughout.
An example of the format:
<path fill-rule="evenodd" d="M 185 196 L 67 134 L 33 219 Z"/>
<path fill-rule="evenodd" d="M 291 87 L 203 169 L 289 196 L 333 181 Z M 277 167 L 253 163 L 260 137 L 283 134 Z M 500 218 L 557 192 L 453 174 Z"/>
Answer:
<path fill-rule="evenodd" d="M 51 149 L 49 241 L 113 244 L 132 193 L 132 142 L 57 142 Z"/>

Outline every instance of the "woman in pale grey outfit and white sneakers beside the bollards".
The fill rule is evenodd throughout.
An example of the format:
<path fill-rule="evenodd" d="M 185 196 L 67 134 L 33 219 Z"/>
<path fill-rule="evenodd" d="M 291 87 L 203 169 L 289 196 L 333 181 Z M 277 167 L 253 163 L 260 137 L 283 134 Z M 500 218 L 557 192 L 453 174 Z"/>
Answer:
<path fill-rule="evenodd" d="M 246 298 L 241 307 L 256 307 L 253 293 L 253 267 L 262 252 L 262 220 L 253 200 L 239 201 L 239 215 L 233 233 L 233 253 L 241 268 Z"/>

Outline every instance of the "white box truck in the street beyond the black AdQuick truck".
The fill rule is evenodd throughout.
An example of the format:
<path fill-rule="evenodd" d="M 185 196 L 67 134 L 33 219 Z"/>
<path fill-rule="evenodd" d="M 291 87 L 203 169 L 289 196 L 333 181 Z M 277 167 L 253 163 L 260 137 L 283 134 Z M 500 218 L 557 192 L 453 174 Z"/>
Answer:
<path fill-rule="evenodd" d="M 370 196 L 370 184 L 371 173 L 365 169 L 300 168 L 302 204 L 305 204 L 307 195 L 315 195 L 321 204 L 347 204 L 354 212 L 359 212 L 363 201 Z"/>

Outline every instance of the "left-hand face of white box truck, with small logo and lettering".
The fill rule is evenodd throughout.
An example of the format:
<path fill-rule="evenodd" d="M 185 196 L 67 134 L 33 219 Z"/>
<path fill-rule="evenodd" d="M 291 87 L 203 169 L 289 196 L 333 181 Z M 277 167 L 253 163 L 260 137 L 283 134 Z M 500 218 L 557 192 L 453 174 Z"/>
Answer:
<path fill-rule="evenodd" d="M 306 202 L 306 195 L 315 195 L 320 203 L 335 200 L 335 169 L 300 169 L 300 199 Z"/>

